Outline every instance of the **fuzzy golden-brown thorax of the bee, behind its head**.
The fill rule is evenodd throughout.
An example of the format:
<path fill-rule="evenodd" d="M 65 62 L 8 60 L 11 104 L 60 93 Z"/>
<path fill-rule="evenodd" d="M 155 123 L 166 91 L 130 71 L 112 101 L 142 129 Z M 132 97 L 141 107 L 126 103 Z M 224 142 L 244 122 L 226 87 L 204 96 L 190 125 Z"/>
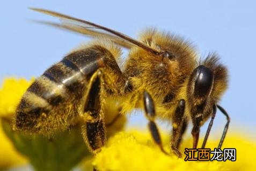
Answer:
<path fill-rule="evenodd" d="M 137 87 L 148 87 L 148 91 L 157 92 L 154 98 L 163 98 L 166 92 L 175 94 L 195 66 L 196 53 L 191 43 L 156 28 L 145 30 L 139 38 L 158 51 L 167 51 L 169 56 L 159 57 L 141 48 L 131 48 L 125 74 L 133 77 Z"/>

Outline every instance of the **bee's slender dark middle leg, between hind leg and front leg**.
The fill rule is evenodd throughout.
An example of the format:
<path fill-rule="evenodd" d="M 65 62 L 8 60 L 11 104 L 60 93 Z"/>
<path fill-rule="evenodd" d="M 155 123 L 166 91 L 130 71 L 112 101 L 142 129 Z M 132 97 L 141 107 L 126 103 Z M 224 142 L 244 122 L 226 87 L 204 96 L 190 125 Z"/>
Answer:
<path fill-rule="evenodd" d="M 153 102 L 152 97 L 147 91 L 143 92 L 143 102 L 144 102 L 144 110 L 145 115 L 147 116 L 147 119 L 149 120 L 148 126 L 151 133 L 151 136 L 155 143 L 159 145 L 160 149 L 167 155 L 169 155 L 163 147 L 162 139 L 160 137 L 156 122 L 155 122 L 155 104 Z"/>

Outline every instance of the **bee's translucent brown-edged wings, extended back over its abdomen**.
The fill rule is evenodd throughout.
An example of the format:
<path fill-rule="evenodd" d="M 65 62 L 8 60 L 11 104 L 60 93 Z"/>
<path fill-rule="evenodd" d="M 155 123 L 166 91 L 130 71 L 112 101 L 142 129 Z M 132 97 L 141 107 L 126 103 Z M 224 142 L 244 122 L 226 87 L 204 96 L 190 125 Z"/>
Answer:
<path fill-rule="evenodd" d="M 54 11 L 35 9 L 35 8 L 31 8 L 31 9 L 34 11 L 52 15 L 53 17 L 60 18 L 60 21 L 61 21 L 61 24 L 54 24 L 50 22 L 46 24 L 50 24 L 60 28 L 65 28 L 65 29 L 72 30 L 74 32 L 82 33 L 85 35 L 108 37 L 113 42 L 120 44 L 122 46 L 125 46 L 126 48 L 131 48 L 131 46 L 137 45 L 143 48 L 144 50 L 152 52 L 156 55 L 160 53 L 158 50 L 151 48 L 150 46 L 148 46 L 147 44 L 144 44 L 143 42 L 137 41 L 125 34 L 116 32 L 115 30 L 109 29 L 107 27 L 100 26 L 89 21 L 70 17 L 68 15 L 64 15 Z"/>

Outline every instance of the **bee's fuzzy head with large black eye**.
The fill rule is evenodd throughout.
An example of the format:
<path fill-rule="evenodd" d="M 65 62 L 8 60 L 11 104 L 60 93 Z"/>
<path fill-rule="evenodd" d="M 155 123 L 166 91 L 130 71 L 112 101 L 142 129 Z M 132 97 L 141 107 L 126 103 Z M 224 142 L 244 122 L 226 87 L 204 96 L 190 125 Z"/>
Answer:
<path fill-rule="evenodd" d="M 218 57 L 209 55 L 194 69 L 189 77 L 187 96 L 194 106 L 206 105 L 212 108 L 220 100 L 228 86 L 227 69 L 218 63 Z M 205 103 L 206 104 L 202 104 Z"/>

